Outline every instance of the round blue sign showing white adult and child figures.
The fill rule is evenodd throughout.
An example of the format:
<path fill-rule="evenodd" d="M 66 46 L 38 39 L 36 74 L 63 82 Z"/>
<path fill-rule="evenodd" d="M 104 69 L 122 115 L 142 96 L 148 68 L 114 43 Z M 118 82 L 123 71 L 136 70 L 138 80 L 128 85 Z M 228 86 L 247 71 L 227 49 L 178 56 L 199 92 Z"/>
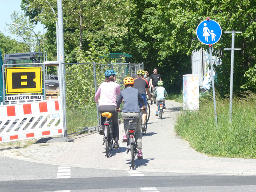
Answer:
<path fill-rule="evenodd" d="M 209 45 L 220 40 L 222 30 L 214 20 L 204 20 L 196 28 L 196 36 L 200 42 Z"/>

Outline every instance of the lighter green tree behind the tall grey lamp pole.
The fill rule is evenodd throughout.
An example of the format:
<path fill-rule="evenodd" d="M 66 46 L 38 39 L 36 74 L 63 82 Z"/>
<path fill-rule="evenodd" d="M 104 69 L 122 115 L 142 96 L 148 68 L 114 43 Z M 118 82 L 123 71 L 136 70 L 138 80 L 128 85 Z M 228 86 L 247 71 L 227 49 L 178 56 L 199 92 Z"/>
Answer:
<path fill-rule="evenodd" d="M 56 40 L 53 14 L 50 5 L 56 10 L 56 0 L 22 0 L 22 9 L 33 22 L 40 21 L 48 28 L 46 32 L 47 44 Z M 127 14 L 132 8 L 125 0 L 63 0 L 64 42 L 66 56 L 69 62 L 76 62 L 78 54 L 74 52 L 77 46 L 84 52 L 89 49 L 88 38 L 114 36 L 119 38 L 127 32 Z M 54 38 L 53 38 L 54 37 Z M 102 39 L 102 38 L 101 38 Z M 54 49 L 52 48 L 52 51 Z M 73 58 L 73 59 L 72 59 Z"/>

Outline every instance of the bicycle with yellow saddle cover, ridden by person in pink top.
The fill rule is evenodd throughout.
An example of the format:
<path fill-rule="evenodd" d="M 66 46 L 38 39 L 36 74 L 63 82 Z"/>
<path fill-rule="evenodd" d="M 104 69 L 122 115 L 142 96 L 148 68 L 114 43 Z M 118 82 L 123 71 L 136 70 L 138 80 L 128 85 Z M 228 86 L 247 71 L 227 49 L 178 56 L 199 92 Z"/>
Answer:
<path fill-rule="evenodd" d="M 104 112 L 101 114 L 103 117 L 106 117 L 106 120 L 104 121 L 104 135 L 103 135 L 103 143 L 102 145 L 105 144 L 106 147 L 106 156 L 109 157 L 109 151 L 114 148 L 114 143 L 113 143 L 113 134 L 111 132 L 111 120 L 110 117 L 113 115 L 110 112 Z"/>

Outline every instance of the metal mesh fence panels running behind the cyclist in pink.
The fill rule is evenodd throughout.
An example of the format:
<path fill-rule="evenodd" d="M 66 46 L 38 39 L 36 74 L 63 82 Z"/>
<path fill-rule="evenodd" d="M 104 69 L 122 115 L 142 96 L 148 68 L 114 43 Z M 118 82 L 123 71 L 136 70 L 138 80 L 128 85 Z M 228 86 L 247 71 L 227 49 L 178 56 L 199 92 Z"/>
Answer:
<path fill-rule="evenodd" d="M 98 104 L 94 102 L 96 90 L 105 80 L 104 72 L 113 69 L 116 82 L 124 89 L 127 76 L 137 77 L 142 64 L 131 63 L 65 63 L 67 135 L 96 129 L 99 126 Z M 98 122 L 98 123 L 97 123 Z"/>

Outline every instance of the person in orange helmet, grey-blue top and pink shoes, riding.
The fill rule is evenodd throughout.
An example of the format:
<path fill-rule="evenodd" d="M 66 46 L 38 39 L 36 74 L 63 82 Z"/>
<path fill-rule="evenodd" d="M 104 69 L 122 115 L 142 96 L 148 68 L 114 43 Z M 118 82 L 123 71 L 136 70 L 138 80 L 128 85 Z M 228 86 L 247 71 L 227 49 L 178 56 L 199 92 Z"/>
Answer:
<path fill-rule="evenodd" d="M 144 100 L 139 93 L 139 91 L 134 88 L 134 79 L 132 77 L 126 77 L 124 78 L 124 85 L 125 89 L 121 91 L 121 93 L 118 96 L 118 100 L 116 103 L 116 111 L 120 112 L 120 104 L 122 103 L 122 100 L 124 100 L 124 107 L 122 110 L 122 117 L 123 118 L 129 118 L 129 117 L 135 117 L 138 118 L 138 126 L 135 130 L 136 133 L 136 139 L 137 139 L 137 147 L 139 148 L 138 152 L 138 159 L 143 159 L 142 156 L 142 135 L 140 130 L 140 107 L 138 105 L 138 102 L 142 104 L 142 109 L 146 109 Z M 127 142 L 127 136 L 126 132 L 127 130 L 124 130 L 125 134 L 123 137 L 123 142 Z"/>

